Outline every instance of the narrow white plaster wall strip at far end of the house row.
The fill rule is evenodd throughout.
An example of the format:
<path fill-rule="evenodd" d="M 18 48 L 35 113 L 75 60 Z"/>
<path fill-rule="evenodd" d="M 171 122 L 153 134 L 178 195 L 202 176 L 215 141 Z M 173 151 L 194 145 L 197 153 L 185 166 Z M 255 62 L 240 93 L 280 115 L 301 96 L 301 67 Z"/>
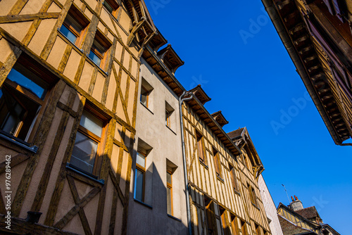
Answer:
<path fill-rule="evenodd" d="M 282 229 L 280 226 L 279 218 L 277 217 L 277 211 L 275 207 L 274 201 L 272 201 L 272 197 L 270 195 L 269 189 L 265 184 L 263 175 L 260 174 L 258 179 L 258 186 L 260 191 L 260 196 L 263 200 L 265 213 L 267 217 L 271 220 L 269 226 L 272 235 L 283 235 Z"/>

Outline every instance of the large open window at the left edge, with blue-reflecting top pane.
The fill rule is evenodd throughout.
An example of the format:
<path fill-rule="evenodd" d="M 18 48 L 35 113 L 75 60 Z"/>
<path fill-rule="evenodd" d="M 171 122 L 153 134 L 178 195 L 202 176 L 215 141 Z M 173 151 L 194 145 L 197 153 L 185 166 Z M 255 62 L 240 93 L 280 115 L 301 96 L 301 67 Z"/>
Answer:
<path fill-rule="evenodd" d="M 54 82 L 26 56 L 18 58 L 0 90 L 0 132 L 29 145 L 39 124 L 41 108 Z"/>

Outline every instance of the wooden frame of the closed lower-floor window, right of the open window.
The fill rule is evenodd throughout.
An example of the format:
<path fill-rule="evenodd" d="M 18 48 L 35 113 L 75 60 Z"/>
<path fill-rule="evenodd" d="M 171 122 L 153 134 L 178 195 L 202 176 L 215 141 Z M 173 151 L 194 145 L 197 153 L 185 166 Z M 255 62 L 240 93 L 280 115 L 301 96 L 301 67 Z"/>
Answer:
<path fill-rule="evenodd" d="M 80 132 L 80 134 L 83 134 L 84 136 L 87 136 L 89 139 L 92 139 L 93 141 L 96 141 L 98 143 L 97 144 L 98 146 L 96 148 L 96 153 L 94 156 L 95 159 L 94 159 L 92 173 L 82 170 L 80 167 L 77 167 L 70 162 L 69 162 L 69 165 L 70 167 L 73 167 L 75 170 L 78 170 L 84 174 L 88 174 L 90 177 L 94 177 L 95 179 L 98 179 L 100 176 L 101 164 L 103 161 L 103 158 L 101 156 L 103 155 L 103 151 L 106 145 L 106 131 L 108 129 L 108 120 L 106 119 L 105 116 L 103 116 L 102 114 L 99 114 L 99 112 L 95 110 L 89 103 L 86 103 L 84 110 L 86 110 L 87 113 L 90 113 L 96 119 L 101 120 L 102 122 L 101 137 L 90 132 L 87 128 L 82 127 L 81 125 L 79 125 L 77 129 L 77 132 Z M 83 113 L 81 115 L 81 119 L 82 119 L 82 116 L 83 116 Z M 77 138 L 77 135 L 76 135 L 76 138 Z M 74 146 L 75 146 L 75 143 L 73 144 L 73 147 Z M 72 155 L 73 153 L 71 153 L 71 157 Z M 71 158 L 70 158 L 70 161 L 71 161 Z"/>

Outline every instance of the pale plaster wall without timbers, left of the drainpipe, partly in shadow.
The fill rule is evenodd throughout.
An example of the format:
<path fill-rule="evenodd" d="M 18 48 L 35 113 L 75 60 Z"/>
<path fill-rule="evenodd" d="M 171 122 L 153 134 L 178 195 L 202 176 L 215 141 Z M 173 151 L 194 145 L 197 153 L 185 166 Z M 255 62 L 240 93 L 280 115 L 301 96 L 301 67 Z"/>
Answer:
<path fill-rule="evenodd" d="M 178 97 L 144 59 L 140 68 L 127 234 L 187 234 Z M 139 102 L 142 77 L 153 87 L 149 108 Z M 171 115 L 170 129 L 165 125 L 165 101 L 175 109 Z M 145 203 L 150 207 L 134 200 L 134 171 L 139 139 L 152 147 L 146 157 L 144 194 Z M 166 159 L 177 166 L 172 174 L 173 216 L 177 219 L 167 213 Z"/>

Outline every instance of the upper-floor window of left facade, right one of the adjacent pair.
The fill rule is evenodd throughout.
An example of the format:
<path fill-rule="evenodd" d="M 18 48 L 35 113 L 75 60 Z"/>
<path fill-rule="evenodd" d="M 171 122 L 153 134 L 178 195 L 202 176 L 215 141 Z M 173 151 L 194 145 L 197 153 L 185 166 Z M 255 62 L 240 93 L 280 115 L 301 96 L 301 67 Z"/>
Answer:
<path fill-rule="evenodd" d="M 110 46 L 111 42 L 109 42 L 99 30 L 96 30 L 96 35 L 88 57 L 100 68 L 104 68 L 106 64 L 106 52 Z"/>

